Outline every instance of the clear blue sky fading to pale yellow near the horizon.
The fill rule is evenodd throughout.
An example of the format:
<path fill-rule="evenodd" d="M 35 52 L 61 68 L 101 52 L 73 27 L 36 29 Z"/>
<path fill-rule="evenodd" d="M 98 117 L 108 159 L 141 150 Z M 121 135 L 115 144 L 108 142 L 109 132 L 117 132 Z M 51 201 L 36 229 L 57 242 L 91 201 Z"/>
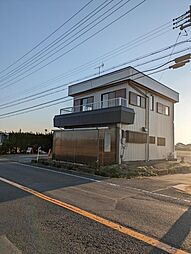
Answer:
<path fill-rule="evenodd" d="M 0 131 L 19 131 L 20 129 L 33 132 L 44 132 L 45 129 L 51 131 L 53 129 L 54 115 L 59 114 L 61 108 L 70 105 L 71 101 L 62 102 L 60 100 L 58 105 L 45 107 L 45 104 L 41 110 L 16 116 L 10 114 L 7 118 L 3 118 L 3 114 L 47 101 L 65 98 L 67 96 L 67 85 L 73 84 L 76 80 L 82 80 L 85 77 L 98 74 L 98 68 L 96 67 L 102 63 L 104 63 L 104 67 L 101 69 L 103 72 L 110 68 L 115 69 L 119 65 L 125 67 L 134 58 L 163 49 L 176 41 L 181 42 L 190 39 L 191 28 L 186 29 L 187 35 L 186 32 L 182 32 L 179 36 L 180 30 L 172 29 L 172 19 L 182 15 L 189 9 L 190 0 L 146 0 L 144 2 L 143 0 L 129 0 L 128 2 L 127 0 L 92 0 L 86 8 L 79 12 L 88 2 L 89 0 L 0 1 Z M 125 4 L 125 2 L 127 3 Z M 141 2 L 143 3 L 140 6 L 131 10 Z M 106 7 L 89 21 L 89 23 L 92 22 L 92 26 L 89 24 L 87 28 L 92 27 L 91 30 L 81 36 L 77 34 L 76 38 L 74 33 L 80 30 L 80 20 L 83 19 L 85 22 L 85 17 L 96 8 L 98 10 L 101 4 L 105 4 Z M 106 18 L 113 10 L 112 6 L 116 5 L 117 8 L 122 4 L 124 4 L 123 7 Z M 125 15 L 128 10 L 131 11 Z M 74 18 L 66 22 L 77 12 L 79 13 Z M 99 23 L 98 21 L 101 20 L 101 17 L 99 18 L 98 16 L 101 14 L 105 15 L 103 16 L 105 18 Z M 101 30 L 123 14 L 124 16 L 121 19 L 97 33 L 98 30 Z M 64 23 L 66 24 L 46 41 L 20 59 Z M 85 24 L 88 23 L 84 23 L 82 28 Z M 71 30 L 76 28 L 76 26 L 79 26 L 78 30 L 72 33 Z M 160 26 L 161 31 L 158 33 L 148 38 L 143 37 Z M 70 34 L 68 31 L 70 31 Z M 82 30 L 81 33 L 84 31 Z M 44 53 L 46 54 L 49 49 L 49 43 L 63 34 L 68 36 L 65 37 L 65 44 L 60 46 L 63 49 L 44 62 L 39 63 L 38 61 L 44 59 L 40 58 L 43 56 L 42 54 L 38 55 L 39 51 L 41 50 L 40 52 L 43 53 L 42 49 L 46 47 L 45 50 L 47 49 L 47 51 Z M 72 42 L 74 38 L 76 40 Z M 139 41 L 137 41 L 138 38 Z M 123 46 L 124 50 L 120 52 L 121 46 Z M 177 56 L 190 53 L 189 47 L 190 42 L 185 42 L 151 58 L 132 62 L 131 65 L 136 67 L 136 65 L 146 60 L 185 50 L 183 53 L 136 67 L 140 71 L 149 70 L 164 64 L 168 60 L 173 60 Z M 115 51 L 117 49 L 119 51 Z M 52 51 L 52 53 L 55 51 Z M 108 52 L 110 52 L 110 57 L 106 58 L 105 54 Z M 118 54 L 112 56 L 111 52 L 118 52 Z M 36 58 L 32 60 L 31 57 L 35 57 L 35 54 Z M 61 54 L 62 57 L 36 71 Z M 18 61 L 18 59 L 20 60 Z M 97 60 L 95 61 L 95 59 Z M 24 67 L 19 66 L 24 64 L 25 61 L 30 62 L 28 65 L 23 65 Z M 38 63 L 39 65 L 34 67 Z M 123 63 L 127 64 L 122 65 Z M 7 67 L 9 68 L 6 69 Z M 34 68 L 32 69 L 32 67 Z M 27 68 L 31 68 L 31 70 Z M 32 73 L 33 71 L 35 72 Z M 191 64 L 189 63 L 180 69 L 167 70 L 151 75 L 156 80 L 180 93 L 180 102 L 175 106 L 176 142 L 191 143 L 190 74 Z M 58 91 L 57 93 L 51 92 L 50 94 L 49 92 L 46 97 L 25 101 L 23 104 L 18 102 L 15 103 L 16 105 L 11 106 L 10 104 L 14 100 L 57 86 L 60 86 L 59 89 L 54 90 L 54 92 Z M 5 103 L 8 104 L 3 106 Z"/>

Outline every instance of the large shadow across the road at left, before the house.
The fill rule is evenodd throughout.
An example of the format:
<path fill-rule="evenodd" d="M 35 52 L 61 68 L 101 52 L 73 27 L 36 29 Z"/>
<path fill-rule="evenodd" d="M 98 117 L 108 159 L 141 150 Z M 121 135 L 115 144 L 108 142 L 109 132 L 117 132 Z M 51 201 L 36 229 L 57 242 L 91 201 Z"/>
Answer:
<path fill-rule="evenodd" d="M 72 172 L 57 174 L 51 170 L 44 171 L 38 167 L 30 167 L 28 165 L 10 162 L 0 162 L 0 177 L 19 183 L 38 192 L 46 192 L 94 182 L 88 176 L 81 176 L 78 175 L 78 173 L 76 173 L 76 176 L 72 175 Z M 99 180 L 101 180 L 101 178 L 99 178 Z M 0 181 L 0 203 L 29 195 L 31 194 Z"/>

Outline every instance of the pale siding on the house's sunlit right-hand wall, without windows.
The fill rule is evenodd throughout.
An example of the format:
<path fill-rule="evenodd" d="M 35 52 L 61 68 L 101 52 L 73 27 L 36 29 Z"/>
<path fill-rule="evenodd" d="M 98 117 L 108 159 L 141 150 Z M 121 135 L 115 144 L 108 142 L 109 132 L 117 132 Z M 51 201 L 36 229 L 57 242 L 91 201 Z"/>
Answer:
<path fill-rule="evenodd" d="M 128 91 L 133 91 L 133 89 L 129 88 Z M 147 95 L 149 96 L 150 94 L 148 93 Z M 157 113 L 157 102 L 170 107 L 169 116 Z M 145 126 L 145 109 L 132 105 L 129 105 L 129 107 L 133 108 L 135 111 L 135 122 L 133 125 L 123 125 L 122 128 L 124 130 L 141 132 L 142 127 Z M 155 137 L 155 144 L 149 145 L 149 160 L 167 159 L 169 154 L 174 152 L 173 108 L 173 102 L 163 99 L 160 96 L 154 95 L 154 111 L 149 110 L 149 136 Z M 165 138 L 166 145 L 157 146 L 157 137 Z M 126 149 L 123 157 L 124 161 L 136 161 L 145 159 L 145 144 L 126 144 Z"/>

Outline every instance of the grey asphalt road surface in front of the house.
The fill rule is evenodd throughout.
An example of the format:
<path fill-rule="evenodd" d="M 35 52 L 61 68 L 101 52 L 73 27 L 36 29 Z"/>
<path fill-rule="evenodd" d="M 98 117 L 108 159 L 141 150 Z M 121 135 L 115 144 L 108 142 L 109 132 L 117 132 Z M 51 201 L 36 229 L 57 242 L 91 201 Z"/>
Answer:
<path fill-rule="evenodd" d="M 191 174 L 111 180 L 0 159 L 0 177 L 1 254 L 173 253 L 149 244 L 147 237 L 191 253 Z M 41 193 L 81 208 L 83 215 Z M 95 221 L 87 211 L 132 229 L 135 237 Z"/>

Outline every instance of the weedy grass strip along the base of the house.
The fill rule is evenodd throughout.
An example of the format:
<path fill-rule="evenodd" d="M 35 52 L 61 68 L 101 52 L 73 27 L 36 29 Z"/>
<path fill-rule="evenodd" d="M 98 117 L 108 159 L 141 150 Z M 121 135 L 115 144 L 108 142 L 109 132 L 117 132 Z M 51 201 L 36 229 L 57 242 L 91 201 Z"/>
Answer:
<path fill-rule="evenodd" d="M 129 164 L 114 164 L 100 167 L 93 167 L 84 164 L 77 164 L 64 161 L 55 161 L 47 159 L 39 159 L 38 163 L 33 160 L 32 163 L 53 167 L 55 170 L 75 170 L 88 174 L 99 175 L 110 178 L 134 178 L 148 177 L 157 175 L 168 175 L 178 173 L 191 173 L 191 164 L 178 162 L 137 162 Z"/>

